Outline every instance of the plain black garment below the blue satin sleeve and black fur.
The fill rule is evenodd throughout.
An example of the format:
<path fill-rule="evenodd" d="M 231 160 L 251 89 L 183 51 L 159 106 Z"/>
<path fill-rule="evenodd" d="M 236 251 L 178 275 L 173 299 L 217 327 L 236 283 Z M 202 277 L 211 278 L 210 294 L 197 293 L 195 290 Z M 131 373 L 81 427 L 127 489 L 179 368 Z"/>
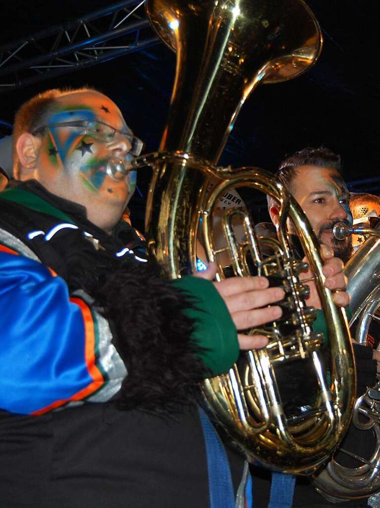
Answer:
<path fill-rule="evenodd" d="M 235 490 L 243 460 L 228 451 Z M 197 408 L 173 418 L 85 404 L 0 416 L 0 506 L 209 508 Z"/>

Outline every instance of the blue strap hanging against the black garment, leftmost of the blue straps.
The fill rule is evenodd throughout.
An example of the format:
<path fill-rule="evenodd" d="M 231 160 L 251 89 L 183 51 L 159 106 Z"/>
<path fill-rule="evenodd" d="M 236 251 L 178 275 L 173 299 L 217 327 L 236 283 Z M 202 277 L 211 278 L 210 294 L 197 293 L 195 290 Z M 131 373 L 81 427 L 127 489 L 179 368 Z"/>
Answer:
<path fill-rule="evenodd" d="M 209 472 L 210 508 L 234 508 L 231 471 L 222 441 L 209 417 L 198 406 Z"/>

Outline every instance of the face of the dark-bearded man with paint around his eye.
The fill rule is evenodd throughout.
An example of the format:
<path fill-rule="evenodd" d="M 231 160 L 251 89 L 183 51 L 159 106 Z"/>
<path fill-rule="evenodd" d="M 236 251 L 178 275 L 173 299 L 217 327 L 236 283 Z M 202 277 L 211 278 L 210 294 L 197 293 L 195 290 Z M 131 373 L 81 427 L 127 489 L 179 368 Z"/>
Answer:
<path fill-rule="evenodd" d="M 291 193 L 306 214 L 320 243 L 333 248 L 335 256 L 347 262 L 352 255 L 352 238 L 336 240 L 332 229 L 342 221 L 352 225 L 350 194 L 336 170 L 300 166 L 291 182 Z"/>

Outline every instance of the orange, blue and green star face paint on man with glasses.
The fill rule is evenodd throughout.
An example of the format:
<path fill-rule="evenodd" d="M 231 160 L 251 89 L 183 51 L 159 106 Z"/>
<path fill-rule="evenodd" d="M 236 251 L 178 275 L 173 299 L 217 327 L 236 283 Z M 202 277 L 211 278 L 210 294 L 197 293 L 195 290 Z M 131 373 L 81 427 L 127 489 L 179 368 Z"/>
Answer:
<path fill-rule="evenodd" d="M 81 121 L 93 120 L 110 125 L 115 133 L 109 141 L 99 141 L 87 134 Z M 58 124 L 66 125 L 58 125 Z M 83 192 L 90 192 L 97 199 L 112 203 L 126 203 L 136 185 L 136 173 L 131 172 L 124 180 L 115 181 L 106 173 L 110 158 L 127 157 L 131 148 L 128 138 L 119 131 L 127 125 L 116 107 L 107 97 L 97 92 L 79 92 L 59 98 L 54 110 L 41 125 L 42 131 L 39 171 L 40 182 L 51 192 L 80 202 Z M 96 124 L 95 124 L 96 126 Z M 111 191 L 110 191 L 111 189 Z M 75 199 L 75 195 L 80 199 Z"/>

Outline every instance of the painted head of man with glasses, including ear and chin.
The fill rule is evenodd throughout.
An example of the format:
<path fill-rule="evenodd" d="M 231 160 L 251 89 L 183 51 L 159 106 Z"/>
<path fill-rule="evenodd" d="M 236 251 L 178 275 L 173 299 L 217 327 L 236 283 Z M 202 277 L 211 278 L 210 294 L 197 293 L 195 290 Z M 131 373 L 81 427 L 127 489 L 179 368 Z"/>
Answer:
<path fill-rule="evenodd" d="M 20 118 L 19 131 L 23 123 Z M 112 231 L 134 192 L 136 173 L 115 180 L 107 174 L 107 164 L 142 148 L 112 101 L 95 91 L 64 94 L 29 132 L 15 132 L 14 138 L 16 178 L 36 179 L 52 194 L 84 206 L 92 223 Z"/>

